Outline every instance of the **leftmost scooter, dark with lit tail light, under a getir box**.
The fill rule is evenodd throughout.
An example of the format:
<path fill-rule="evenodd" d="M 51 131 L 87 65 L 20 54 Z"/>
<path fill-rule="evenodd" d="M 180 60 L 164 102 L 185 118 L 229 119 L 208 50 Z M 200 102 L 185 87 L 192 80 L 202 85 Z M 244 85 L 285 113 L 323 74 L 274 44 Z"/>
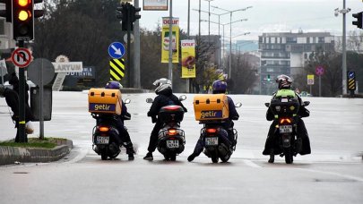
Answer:
<path fill-rule="evenodd" d="M 125 99 L 125 104 L 129 104 L 130 99 Z M 92 131 L 92 149 L 101 156 L 102 160 L 116 158 L 124 142 L 120 139 L 117 130 L 117 119 L 110 114 L 91 114 L 96 119 L 96 126 Z M 130 116 L 123 116 L 124 120 L 130 120 Z"/>

